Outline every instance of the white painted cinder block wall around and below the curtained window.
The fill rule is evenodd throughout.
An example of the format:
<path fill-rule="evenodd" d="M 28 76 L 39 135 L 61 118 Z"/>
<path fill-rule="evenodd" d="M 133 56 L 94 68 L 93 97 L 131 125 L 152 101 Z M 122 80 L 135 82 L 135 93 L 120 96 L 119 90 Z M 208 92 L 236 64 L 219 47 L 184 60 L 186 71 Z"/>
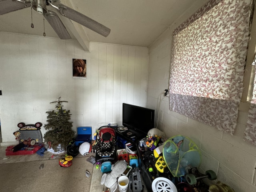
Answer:
<path fill-rule="evenodd" d="M 160 94 L 164 89 L 168 89 L 171 32 L 171 29 L 166 31 L 149 47 L 147 107 L 150 108 L 157 108 Z M 168 97 L 162 101 L 159 112 L 158 128 L 164 131 L 168 138 L 182 134 L 200 147 L 200 171 L 214 170 L 218 176 L 217 180 L 232 186 L 236 192 L 256 191 L 256 146 L 243 141 L 248 104 L 240 104 L 238 125 L 233 136 L 169 111 Z M 209 183 L 209 180 L 205 179 L 205 182 Z"/>

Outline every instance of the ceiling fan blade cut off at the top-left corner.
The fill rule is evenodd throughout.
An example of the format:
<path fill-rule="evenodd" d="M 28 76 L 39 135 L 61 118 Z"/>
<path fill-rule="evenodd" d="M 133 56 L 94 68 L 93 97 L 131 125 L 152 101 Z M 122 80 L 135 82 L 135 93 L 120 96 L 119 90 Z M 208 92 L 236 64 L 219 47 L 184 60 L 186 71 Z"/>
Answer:
<path fill-rule="evenodd" d="M 30 1 L 26 0 L 0 0 L 0 15 L 30 6 Z"/>

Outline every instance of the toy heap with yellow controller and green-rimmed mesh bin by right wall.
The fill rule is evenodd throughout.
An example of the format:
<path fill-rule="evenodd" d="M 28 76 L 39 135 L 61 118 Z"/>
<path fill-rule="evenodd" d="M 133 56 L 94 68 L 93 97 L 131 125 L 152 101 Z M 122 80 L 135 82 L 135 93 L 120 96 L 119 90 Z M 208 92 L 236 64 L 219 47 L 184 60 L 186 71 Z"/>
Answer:
<path fill-rule="evenodd" d="M 138 149 L 153 191 L 167 187 L 173 192 L 208 192 L 209 186 L 202 179 L 217 178 L 212 170 L 205 174 L 198 171 L 201 152 L 188 137 L 177 135 L 166 139 L 148 135 L 139 141 Z"/>

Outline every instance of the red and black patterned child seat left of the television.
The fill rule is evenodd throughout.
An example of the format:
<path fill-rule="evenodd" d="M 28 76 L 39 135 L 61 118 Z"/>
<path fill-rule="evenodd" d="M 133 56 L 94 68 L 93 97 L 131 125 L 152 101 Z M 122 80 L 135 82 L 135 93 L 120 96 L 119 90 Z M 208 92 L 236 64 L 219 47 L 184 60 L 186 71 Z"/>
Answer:
<path fill-rule="evenodd" d="M 109 157 L 116 153 L 116 132 L 111 126 L 102 126 L 96 135 L 95 152 L 97 156 Z"/>

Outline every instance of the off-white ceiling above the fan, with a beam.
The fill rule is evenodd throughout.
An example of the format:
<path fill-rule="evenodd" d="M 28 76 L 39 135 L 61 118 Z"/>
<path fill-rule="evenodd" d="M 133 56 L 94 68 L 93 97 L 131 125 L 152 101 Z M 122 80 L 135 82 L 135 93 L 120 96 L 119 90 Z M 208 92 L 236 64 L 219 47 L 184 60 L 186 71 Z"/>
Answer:
<path fill-rule="evenodd" d="M 72 38 L 88 48 L 88 42 L 103 42 L 148 47 L 169 26 L 188 11 L 202 7 L 209 0 L 61 0 L 62 4 L 81 12 L 111 29 L 108 37 L 70 22 L 60 16 Z M 48 6 L 47 8 L 50 8 Z M 53 9 L 52 9 L 53 10 Z M 193 13 L 193 12 L 192 12 Z M 191 13 L 191 14 L 192 14 Z M 43 36 L 43 16 L 31 8 L 0 15 L 0 31 Z M 48 37 L 57 34 L 45 20 Z"/>

